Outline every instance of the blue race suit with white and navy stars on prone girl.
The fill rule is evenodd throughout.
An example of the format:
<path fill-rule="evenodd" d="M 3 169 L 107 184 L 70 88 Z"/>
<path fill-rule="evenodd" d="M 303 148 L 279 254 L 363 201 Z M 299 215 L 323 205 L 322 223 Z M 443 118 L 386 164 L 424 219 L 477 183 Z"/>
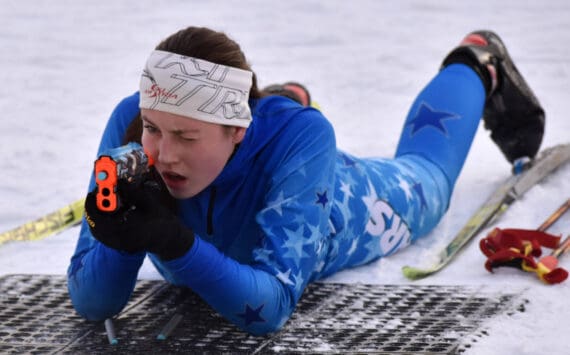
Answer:
<path fill-rule="evenodd" d="M 122 144 L 138 102 L 134 94 L 117 106 L 99 153 Z M 470 68 L 446 67 L 413 103 L 396 157 L 380 159 L 337 150 L 318 110 L 280 96 L 251 100 L 253 121 L 233 158 L 204 191 L 178 201 L 192 248 L 170 261 L 148 256 L 243 330 L 276 331 L 309 282 L 392 254 L 438 223 L 484 102 Z M 90 320 L 119 313 L 145 255 L 106 247 L 84 221 L 68 269 L 76 310 Z"/>

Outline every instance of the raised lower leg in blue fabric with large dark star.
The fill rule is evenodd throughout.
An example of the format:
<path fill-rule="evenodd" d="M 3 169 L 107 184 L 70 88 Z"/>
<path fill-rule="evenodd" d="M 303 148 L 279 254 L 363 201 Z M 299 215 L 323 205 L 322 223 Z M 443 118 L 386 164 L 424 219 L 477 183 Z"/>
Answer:
<path fill-rule="evenodd" d="M 445 175 L 451 195 L 485 105 L 485 88 L 470 67 L 445 67 L 418 95 L 400 136 L 396 157 L 413 156 Z"/>

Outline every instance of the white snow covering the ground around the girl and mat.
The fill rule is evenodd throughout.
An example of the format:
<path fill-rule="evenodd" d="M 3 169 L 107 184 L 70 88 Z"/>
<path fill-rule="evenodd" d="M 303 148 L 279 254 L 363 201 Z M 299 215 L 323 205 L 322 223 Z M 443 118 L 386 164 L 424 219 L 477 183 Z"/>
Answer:
<path fill-rule="evenodd" d="M 413 98 L 471 30 L 498 32 L 547 112 L 543 147 L 569 141 L 570 3 L 565 0 L 163 1 L 3 0 L 0 6 L 0 231 L 85 194 L 100 134 L 122 97 L 137 89 L 148 53 L 170 33 L 201 25 L 244 49 L 261 86 L 306 84 L 336 128 L 338 145 L 391 156 Z M 330 281 L 410 284 L 400 269 L 428 264 L 485 200 L 509 166 L 480 128 L 451 208 L 428 237 Z M 496 224 L 536 228 L 570 197 L 570 166 L 530 190 Z M 487 231 L 487 230 L 486 230 Z M 551 230 L 570 233 L 570 215 Z M 0 276 L 64 274 L 78 233 L 0 246 Z M 484 234 L 481 234 L 483 236 Z M 563 354 L 570 282 L 484 267 L 477 243 L 414 284 L 525 290 L 525 312 L 486 324 L 470 354 Z M 570 258 L 562 259 L 570 269 Z M 157 278 L 145 264 L 141 278 Z M 453 330 L 450 330 L 453 331 Z"/>

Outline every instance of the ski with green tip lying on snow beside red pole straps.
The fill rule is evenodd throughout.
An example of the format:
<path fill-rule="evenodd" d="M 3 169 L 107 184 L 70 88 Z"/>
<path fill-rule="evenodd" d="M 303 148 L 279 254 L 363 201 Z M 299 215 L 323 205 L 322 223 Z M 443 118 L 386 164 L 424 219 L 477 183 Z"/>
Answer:
<path fill-rule="evenodd" d="M 432 275 L 445 266 L 491 221 L 503 214 L 526 191 L 570 161 L 570 144 L 557 145 L 542 151 L 522 172 L 507 178 L 471 216 L 455 238 L 443 249 L 438 260 L 427 268 L 404 266 L 402 272 L 410 280 Z"/>

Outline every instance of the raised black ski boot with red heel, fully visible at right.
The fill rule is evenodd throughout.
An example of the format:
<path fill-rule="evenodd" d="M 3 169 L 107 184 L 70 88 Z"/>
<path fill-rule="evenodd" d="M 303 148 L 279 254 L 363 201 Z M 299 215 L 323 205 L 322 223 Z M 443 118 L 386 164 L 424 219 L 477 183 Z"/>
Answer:
<path fill-rule="evenodd" d="M 533 158 L 542 143 L 544 110 L 495 33 L 475 31 L 444 59 L 442 67 L 473 68 L 487 92 L 485 128 L 509 162 Z"/>

